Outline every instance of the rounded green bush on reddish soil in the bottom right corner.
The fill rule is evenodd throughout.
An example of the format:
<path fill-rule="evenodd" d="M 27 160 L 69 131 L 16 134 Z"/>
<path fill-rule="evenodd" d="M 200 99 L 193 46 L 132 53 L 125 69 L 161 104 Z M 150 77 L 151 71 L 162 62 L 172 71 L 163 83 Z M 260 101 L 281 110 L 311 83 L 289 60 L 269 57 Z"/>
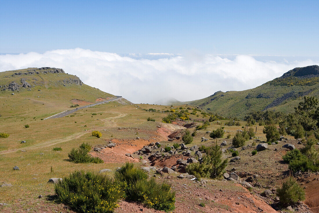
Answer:
<path fill-rule="evenodd" d="M 305 192 L 297 181 L 292 177 L 288 177 L 280 188 L 277 189 L 277 195 L 280 202 L 285 205 L 291 205 L 298 201 L 305 200 Z"/>

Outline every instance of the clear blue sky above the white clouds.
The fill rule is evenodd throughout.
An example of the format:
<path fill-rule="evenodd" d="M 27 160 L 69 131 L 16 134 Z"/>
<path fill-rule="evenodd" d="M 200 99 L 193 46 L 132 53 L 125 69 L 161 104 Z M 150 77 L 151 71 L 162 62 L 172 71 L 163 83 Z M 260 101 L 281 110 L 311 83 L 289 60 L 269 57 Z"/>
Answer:
<path fill-rule="evenodd" d="M 319 1 L 0 1 L 0 53 L 319 57 Z"/>

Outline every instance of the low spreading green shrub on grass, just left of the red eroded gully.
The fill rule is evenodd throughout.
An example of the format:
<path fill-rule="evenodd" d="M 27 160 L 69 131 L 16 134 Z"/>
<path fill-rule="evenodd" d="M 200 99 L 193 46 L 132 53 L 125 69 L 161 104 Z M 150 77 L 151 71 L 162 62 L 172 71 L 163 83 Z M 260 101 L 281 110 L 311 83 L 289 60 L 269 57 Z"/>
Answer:
<path fill-rule="evenodd" d="M 83 143 L 79 149 L 72 148 L 68 154 L 70 160 L 74 163 L 103 163 L 98 157 L 91 157 L 87 153 L 91 150 L 91 146 Z"/>

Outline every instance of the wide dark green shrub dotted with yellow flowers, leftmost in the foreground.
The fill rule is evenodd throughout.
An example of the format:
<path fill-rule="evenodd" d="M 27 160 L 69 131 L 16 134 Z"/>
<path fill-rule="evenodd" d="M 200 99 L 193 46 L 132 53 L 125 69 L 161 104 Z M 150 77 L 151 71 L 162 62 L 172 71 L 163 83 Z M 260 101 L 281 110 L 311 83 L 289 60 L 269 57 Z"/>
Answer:
<path fill-rule="evenodd" d="M 111 178 L 92 172 L 75 171 L 54 185 L 58 200 L 78 212 L 112 212 L 124 196 Z"/>

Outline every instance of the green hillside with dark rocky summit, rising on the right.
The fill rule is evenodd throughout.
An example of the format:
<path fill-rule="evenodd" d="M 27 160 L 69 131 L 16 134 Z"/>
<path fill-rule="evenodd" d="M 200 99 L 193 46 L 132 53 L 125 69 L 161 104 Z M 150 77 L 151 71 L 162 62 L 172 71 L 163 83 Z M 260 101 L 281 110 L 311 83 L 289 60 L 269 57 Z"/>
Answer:
<path fill-rule="evenodd" d="M 281 77 L 244 91 L 215 92 L 199 100 L 184 102 L 224 116 L 241 117 L 251 110 L 292 112 L 301 97 L 319 98 L 319 66 L 297 67 Z"/>

